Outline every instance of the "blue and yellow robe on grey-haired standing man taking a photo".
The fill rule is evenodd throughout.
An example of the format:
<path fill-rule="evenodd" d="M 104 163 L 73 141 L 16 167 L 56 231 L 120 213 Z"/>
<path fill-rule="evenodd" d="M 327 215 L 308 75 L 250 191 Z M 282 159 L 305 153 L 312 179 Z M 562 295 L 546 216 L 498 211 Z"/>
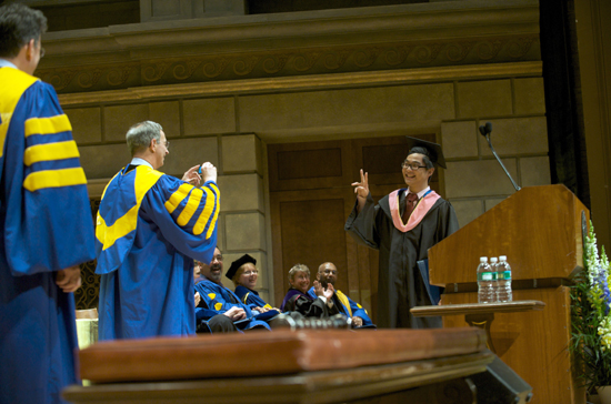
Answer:
<path fill-rule="evenodd" d="M 220 193 L 147 165 L 121 170 L 98 212 L 99 339 L 196 332 L 193 259 L 210 262 Z"/>

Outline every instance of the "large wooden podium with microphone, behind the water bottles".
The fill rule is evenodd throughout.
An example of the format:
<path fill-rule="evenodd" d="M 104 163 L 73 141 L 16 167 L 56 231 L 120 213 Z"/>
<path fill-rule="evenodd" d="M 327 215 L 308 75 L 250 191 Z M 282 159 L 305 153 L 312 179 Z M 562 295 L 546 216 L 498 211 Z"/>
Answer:
<path fill-rule="evenodd" d="M 541 301 L 542 311 L 497 313 L 490 329 L 497 355 L 532 386 L 531 403 L 584 403 L 567 350 L 570 281 L 583 267 L 588 209 L 564 185 L 524 188 L 429 250 L 431 284 L 445 286 L 441 304 L 478 303 L 480 256 L 507 255 L 514 301 Z M 444 327 L 467 325 L 463 315 Z"/>

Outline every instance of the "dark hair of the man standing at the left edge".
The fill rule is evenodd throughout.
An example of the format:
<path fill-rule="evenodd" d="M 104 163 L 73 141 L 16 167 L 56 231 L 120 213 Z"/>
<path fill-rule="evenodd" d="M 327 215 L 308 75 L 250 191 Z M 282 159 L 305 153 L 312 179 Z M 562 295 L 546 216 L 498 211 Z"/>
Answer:
<path fill-rule="evenodd" d="M 30 40 L 38 42 L 47 31 L 47 18 L 21 3 L 0 7 L 0 58 L 16 58 Z"/>

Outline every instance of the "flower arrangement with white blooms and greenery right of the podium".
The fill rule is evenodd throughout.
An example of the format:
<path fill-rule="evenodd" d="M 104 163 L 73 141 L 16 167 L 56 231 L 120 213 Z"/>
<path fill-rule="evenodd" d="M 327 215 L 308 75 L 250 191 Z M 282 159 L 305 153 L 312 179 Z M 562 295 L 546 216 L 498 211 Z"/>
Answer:
<path fill-rule="evenodd" d="M 599 257 L 594 228 L 585 238 L 585 269 L 574 277 L 571 290 L 571 346 L 577 374 L 588 386 L 611 385 L 611 294 L 609 259 Z"/>

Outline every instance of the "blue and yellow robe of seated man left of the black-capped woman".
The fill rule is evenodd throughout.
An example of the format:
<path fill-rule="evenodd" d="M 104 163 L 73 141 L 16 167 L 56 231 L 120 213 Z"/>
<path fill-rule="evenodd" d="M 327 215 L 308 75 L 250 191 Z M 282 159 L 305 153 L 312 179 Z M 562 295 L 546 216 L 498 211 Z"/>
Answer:
<path fill-rule="evenodd" d="M 211 260 L 207 262 L 210 261 Z M 232 307 L 240 307 L 244 310 L 247 317 L 234 323 L 239 330 L 250 330 L 253 327 L 266 327 L 270 330 L 268 323 L 262 320 L 257 320 L 250 306 L 241 303 L 240 297 L 229 289 L 212 281 L 204 280 L 196 285 L 196 292 L 199 292 L 201 295 L 200 306 L 197 309 L 198 322 L 208 321 L 214 315 L 223 314 Z M 264 317 L 270 316 L 268 313 L 262 313 L 262 315 L 264 315 Z"/>

